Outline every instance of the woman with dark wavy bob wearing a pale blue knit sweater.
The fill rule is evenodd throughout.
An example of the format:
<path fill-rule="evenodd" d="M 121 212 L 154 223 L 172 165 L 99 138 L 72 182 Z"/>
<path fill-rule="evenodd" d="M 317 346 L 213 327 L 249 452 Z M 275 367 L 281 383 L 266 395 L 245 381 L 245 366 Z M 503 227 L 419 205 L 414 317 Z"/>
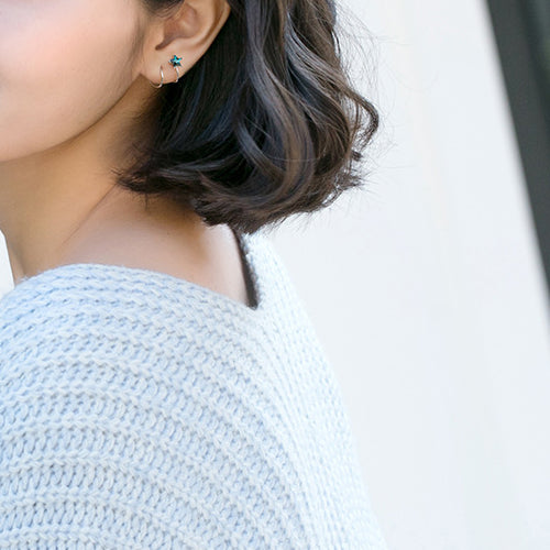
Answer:
<path fill-rule="evenodd" d="M 385 548 L 263 232 L 359 184 L 377 114 L 334 25 L 0 0 L 1 548 Z"/>

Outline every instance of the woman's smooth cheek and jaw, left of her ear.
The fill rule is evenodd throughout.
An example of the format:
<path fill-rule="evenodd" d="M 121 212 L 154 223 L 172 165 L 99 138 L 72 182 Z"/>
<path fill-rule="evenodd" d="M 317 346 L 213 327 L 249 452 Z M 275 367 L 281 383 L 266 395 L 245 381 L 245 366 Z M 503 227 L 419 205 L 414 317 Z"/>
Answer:
<path fill-rule="evenodd" d="M 125 94 L 132 6 L 0 0 L 0 162 L 69 140 Z"/>

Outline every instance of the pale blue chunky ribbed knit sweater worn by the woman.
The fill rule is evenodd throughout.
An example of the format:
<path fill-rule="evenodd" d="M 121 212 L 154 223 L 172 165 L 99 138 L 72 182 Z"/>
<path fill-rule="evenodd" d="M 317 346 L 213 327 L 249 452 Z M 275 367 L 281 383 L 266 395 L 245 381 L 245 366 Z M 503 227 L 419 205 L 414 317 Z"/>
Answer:
<path fill-rule="evenodd" d="M 256 308 L 69 264 L 0 300 L 0 548 L 385 550 L 333 371 L 267 235 Z"/>

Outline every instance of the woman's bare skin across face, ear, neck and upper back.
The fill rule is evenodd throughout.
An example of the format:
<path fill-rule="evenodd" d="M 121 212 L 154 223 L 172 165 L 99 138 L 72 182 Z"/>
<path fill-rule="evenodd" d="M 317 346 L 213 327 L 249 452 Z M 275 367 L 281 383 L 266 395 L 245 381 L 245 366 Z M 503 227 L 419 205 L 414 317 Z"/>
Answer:
<path fill-rule="evenodd" d="M 249 304 L 238 242 L 166 199 L 114 186 L 133 116 L 180 78 L 223 26 L 226 0 L 169 16 L 141 0 L 0 0 L 0 230 L 13 282 L 72 263 L 168 273 Z M 135 47 L 138 41 L 139 47 Z"/>

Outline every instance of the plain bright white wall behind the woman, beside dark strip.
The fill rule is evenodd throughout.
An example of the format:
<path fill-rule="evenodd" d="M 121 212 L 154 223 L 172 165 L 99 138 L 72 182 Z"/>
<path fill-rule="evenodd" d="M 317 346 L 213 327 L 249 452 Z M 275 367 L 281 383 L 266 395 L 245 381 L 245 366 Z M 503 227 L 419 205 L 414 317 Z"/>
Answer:
<path fill-rule="evenodd" d="M 374 173 L 273 241 L 391 548 L 548 549 L 549 301 L 485 2 L 343 4 L 374 34 Z"/>

